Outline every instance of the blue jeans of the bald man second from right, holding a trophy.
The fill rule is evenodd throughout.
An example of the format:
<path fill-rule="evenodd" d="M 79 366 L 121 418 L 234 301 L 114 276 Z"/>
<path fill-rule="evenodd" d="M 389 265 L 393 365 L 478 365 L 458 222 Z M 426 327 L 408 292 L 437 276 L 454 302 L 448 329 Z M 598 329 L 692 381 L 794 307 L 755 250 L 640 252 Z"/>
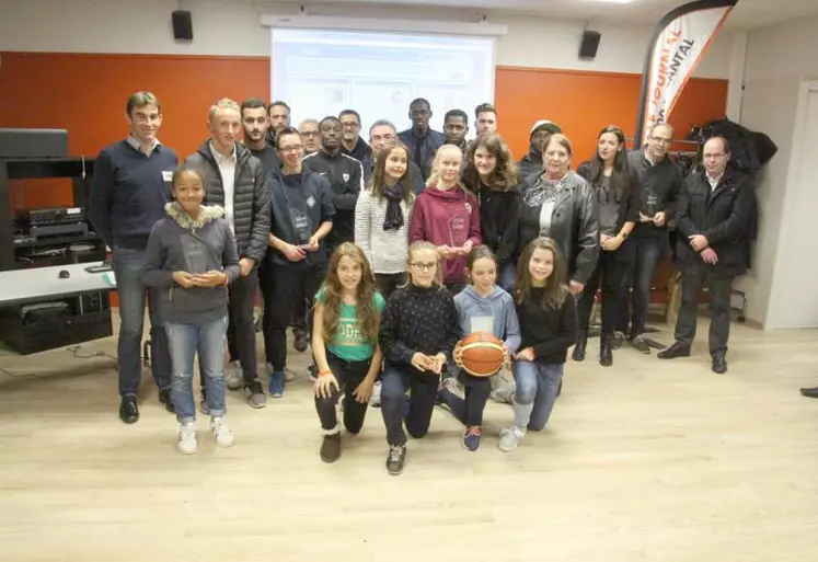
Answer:
<path fill-rule="evenodd" d="M 656 273 L 656 264 L 661 257 L 664 239 L 661 238 L 637 238 L 633 239 L 634 257 L 632 269 L 626 274 L 621 284 L 619 299 L 619 312 L 617 314 L 617 330 L 627 333 L 627 300 L 629 289 L 633 284 L 631 297 L 631 337 L 645 333 L 645 320 L 647 308 L 650 305 L 650 283 Z"/>

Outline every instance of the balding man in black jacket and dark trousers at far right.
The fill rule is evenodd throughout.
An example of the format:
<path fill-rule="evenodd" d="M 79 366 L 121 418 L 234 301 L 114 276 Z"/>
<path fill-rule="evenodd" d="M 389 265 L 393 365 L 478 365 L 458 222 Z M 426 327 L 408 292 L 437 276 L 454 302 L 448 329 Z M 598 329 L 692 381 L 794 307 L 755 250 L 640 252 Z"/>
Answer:
<path fill-rule="evenodd" d="M 677 259 L 682 274 L 682 299 L 676 323 L 676 342 L 658 354 L 660 359 L 690 355 L 695 336 L 699 290 L 707 279 L 713 318 L 710 353 L 713 371 L 727 371 L 733 280 L 747 272 L 748 233 L 756 209 L 749 177 L 729 168 L 727 139 L 704 144 L 702 172 L 688 176 L 679 198 Z"/>

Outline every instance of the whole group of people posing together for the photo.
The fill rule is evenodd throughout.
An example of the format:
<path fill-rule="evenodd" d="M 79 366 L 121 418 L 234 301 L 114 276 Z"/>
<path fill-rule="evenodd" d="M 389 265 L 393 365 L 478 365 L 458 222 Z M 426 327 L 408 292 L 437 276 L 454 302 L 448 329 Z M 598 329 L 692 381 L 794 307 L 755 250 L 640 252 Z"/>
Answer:
<path fill-rule="evenodd" d="M 89 205 L 119 293 L 119 416 L 139 418 L 147 295 L 152 374 L 180 422 L 181 452 L 197 447 L 196 354 L 199 409 L 217 444 L 230 446 L 226 389 L 242 389 L 253 408 L 284 395 L 290 326 L 297 349 L 312 347 L 323 460 L 341 455 L 342 397 L 344 426 L 357 434 L 378 383 L 390 473 L 403 470 L 404 427 L 423 437 L 436 404 L 463 423 L 462 444 L 476 450 L 492 383 L 461 368 L 458 342 L 473 332 L 504 342 L 516 388 L 499 447 L 512 450 L 545 426 L 569 347 L 585 359 L 600 288 L 599 363 L 612 365 L 625 334 L 649 353 L 650 279 L 671 220 L 682 302 L 676 342 L 658 356 L 690 355 L 706 278 L 712 367 L 727 369 L 730 285 L 746 268 L 753 194 L 727 165 L 724 138 L 707 140 L 703 169 L 683 181 L 668 158 L 667 124 L 636 151 L 622 129 L 603 128 L 596 154 L 574 171 L 572 144 L 550 121 L 534 123 L 529 152 L 515 162 L 491 104 L 475 108 L 472 140 L 463 111 L 448 112 L 438 133 L 430 104 L 417 99 L 410 129 L 377 121 L 366 142 L 354 110 L 295 128 L 284 102 L 223 99 L 210 107 L 210 137 L 178 165 L 157 139 L 153 94 L 133 94 L 126 114 L 130 134 L 100 153 Z"/>

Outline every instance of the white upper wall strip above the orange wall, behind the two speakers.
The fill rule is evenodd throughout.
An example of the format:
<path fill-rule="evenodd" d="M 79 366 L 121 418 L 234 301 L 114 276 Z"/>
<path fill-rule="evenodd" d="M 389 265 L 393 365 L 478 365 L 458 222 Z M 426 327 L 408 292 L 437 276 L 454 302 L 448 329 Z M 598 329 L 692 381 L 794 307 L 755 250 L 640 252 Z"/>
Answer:
<path fill-rule="evenodd" d="M 307 2 L 309 3 L 309 2 Z M 171 12 L 176 0 L 0 0 L 0 50 L 64 53 L 146 53 L 268 56 L 269 32 L 262 13 L 295 13 L 297 5 L 244 0 L 184 0 L 193 12 L 194 41 L 173 41 Z M 466 10 L 412 10 L 369 5 L 310 7 L 316 15 L 393 16 L 475 21 Z M 497 43 L 497 64 L 609 72 L 642 73 L 652 27 L 590 22 L 602 33 L 594 61 L 578 59 L 585 22 L 519 15 L 489 15 L 508 26 Z M 696 76 L 727 78 L 731 36 L 723 32 Z"/>

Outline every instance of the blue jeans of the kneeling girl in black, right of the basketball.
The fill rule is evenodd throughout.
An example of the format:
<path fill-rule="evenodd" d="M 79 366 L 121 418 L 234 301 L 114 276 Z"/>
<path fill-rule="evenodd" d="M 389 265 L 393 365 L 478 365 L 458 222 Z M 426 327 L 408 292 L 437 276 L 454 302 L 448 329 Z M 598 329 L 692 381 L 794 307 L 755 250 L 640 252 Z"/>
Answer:
<path fill-rule="evenodd" d="M 528 428 L 539 432 L 549 421 L 554 409 L 565 364 L 549 365 L 538 362 L 516 362 L 511 368 L 517 391 L 514 401 L 528 405 L 533 403 Z"/>

